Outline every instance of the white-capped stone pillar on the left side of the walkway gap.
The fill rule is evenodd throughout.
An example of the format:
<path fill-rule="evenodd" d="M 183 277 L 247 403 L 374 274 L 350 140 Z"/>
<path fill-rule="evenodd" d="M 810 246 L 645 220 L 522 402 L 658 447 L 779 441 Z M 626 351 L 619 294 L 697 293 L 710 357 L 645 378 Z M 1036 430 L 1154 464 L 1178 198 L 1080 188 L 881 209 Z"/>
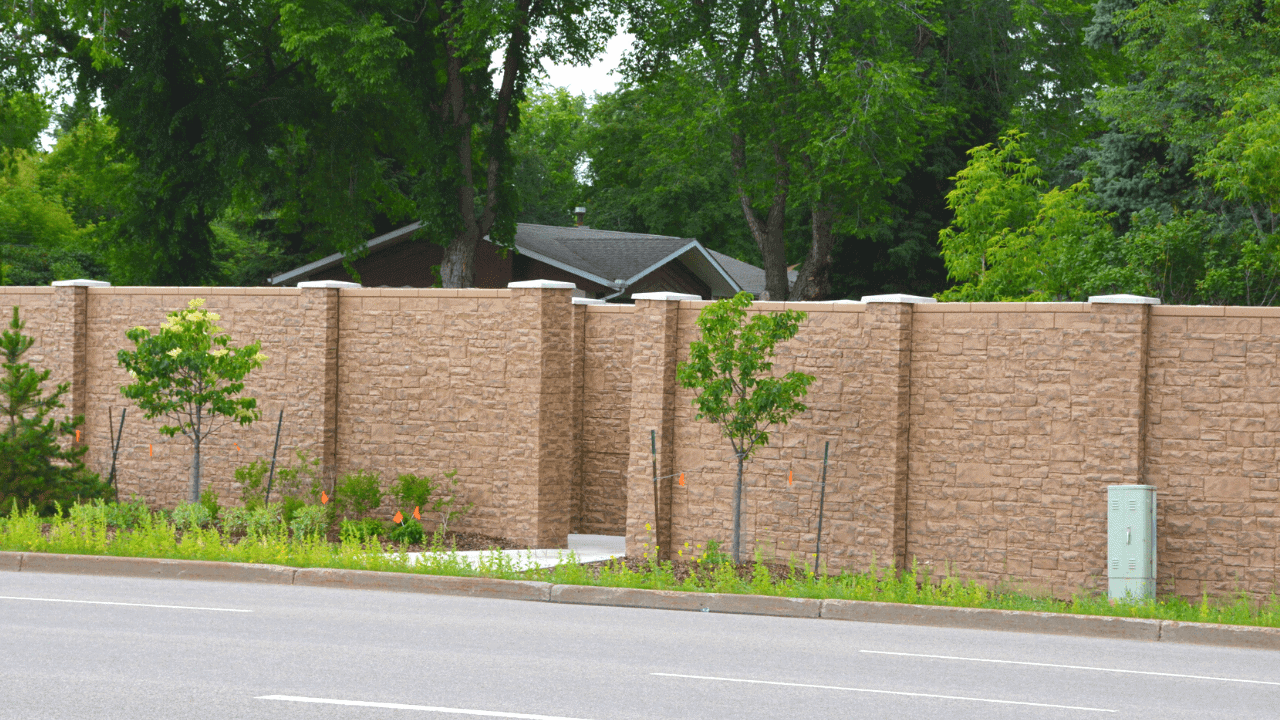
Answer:
<path fill-rule="evenodd" d="M 508 357 L 513 406 L 522 416 L 513 433 L 515 455 L 527 459 L 511 468 L 512 539 L 535 547 L 568 547 L 573 516 L 573 283 L 522 281 L 511 288 L 512 323 L 518 340 Z"/>

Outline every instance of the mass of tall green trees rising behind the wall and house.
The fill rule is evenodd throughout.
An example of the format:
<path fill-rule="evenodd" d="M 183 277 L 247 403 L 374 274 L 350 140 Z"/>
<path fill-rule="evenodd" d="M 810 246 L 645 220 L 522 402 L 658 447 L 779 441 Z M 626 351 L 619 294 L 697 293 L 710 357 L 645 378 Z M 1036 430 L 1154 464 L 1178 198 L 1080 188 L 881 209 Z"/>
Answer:
<path fill-rule="evenodd" d="M 758 264 L 774 300 L 1270 305 L 1276 8 L 8 4 L 0 282 L 257 284 L 417 220 L 466 286 L 480 238 L 584 205 Z M 541 83 L 623 27 L 616 91 Z"/>

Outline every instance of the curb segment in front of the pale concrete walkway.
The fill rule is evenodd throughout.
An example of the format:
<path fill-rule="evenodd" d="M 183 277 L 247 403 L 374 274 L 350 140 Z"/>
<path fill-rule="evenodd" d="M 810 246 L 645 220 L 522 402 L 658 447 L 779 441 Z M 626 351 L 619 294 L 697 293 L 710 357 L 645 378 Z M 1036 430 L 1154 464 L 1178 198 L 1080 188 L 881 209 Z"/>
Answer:
<path fill-rule="evenodd" d="M 449 575 L 335 570 L 329 568 L 303 568 L 294 575 L 293 584 L 323 588 L 460 594 L 495 600 L 534 600 L 543 602 L 549 600 L 552 588 L 549 583 L 530 580 L 454 578 Z"/>

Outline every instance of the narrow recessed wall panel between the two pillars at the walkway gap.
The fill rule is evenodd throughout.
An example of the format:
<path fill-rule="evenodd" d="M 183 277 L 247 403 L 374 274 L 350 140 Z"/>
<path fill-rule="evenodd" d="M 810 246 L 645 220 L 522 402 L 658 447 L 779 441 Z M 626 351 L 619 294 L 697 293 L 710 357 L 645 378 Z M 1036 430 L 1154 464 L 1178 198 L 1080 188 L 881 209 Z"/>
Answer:
<path fill-rule="evenodd" d="M 577 305 L 582 400 L 573 532 L 621 536 L 627 524 L 634 305 Z"/>

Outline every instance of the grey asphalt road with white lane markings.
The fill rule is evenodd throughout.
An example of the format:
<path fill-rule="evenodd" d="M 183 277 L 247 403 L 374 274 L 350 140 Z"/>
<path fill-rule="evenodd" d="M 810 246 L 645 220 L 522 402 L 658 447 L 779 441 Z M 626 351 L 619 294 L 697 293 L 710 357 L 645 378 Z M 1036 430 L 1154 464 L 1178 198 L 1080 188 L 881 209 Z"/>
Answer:
<path fill-rule="evenodd" d="M 0 717 L 1280 716 L 1280 653 L 0 573 Z"/>

